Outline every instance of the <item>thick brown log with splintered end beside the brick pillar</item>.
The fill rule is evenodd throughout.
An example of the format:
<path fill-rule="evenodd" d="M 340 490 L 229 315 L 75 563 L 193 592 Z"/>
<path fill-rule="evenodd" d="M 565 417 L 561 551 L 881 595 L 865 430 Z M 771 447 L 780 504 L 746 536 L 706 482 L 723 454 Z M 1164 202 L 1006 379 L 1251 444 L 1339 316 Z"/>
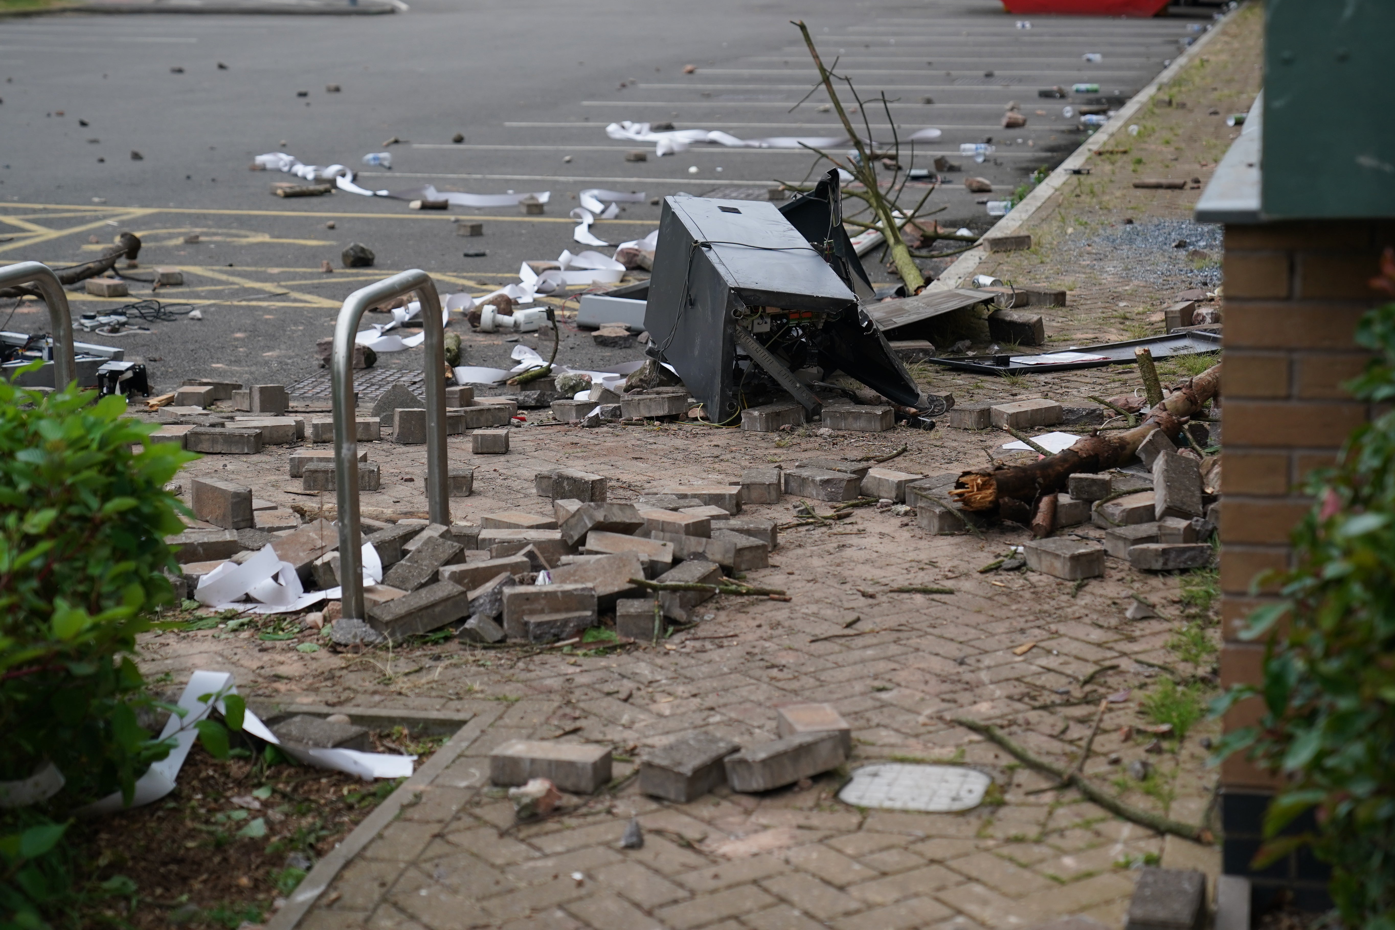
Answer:
<path fill-rule="evenodd" d="M 1205 402 L 1219 393 L 1221 365 L 1214 365 L 1154 407 L 1133 429 L 1110 436 L 1096 431 L 1063 452 L 1024 466 L 965 471 L 954 482 L 950 496 L 965 510 L 997 510 L 1004 519 L 1027 523 L 1031 516 L 1021 520 L 1023 509 L 1031 514 L 1031 508 L 1042 495 L 1064 491 L 1070 475 L 1108 471 L 1126 464 L 1154 429 L 1162 429 L 1169 439 L 1176 439 L 1186 418 L 1200 413 Z"/>

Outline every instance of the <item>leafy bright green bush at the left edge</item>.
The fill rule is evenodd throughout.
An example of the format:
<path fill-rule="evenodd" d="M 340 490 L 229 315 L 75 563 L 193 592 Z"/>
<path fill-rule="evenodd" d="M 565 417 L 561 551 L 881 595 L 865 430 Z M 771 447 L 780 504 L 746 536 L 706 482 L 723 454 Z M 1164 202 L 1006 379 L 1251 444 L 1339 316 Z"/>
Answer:
<path fill-rule="evenodd" d="M 130 654 L 173 598 L 165 484 L 194 457 L 149 443 L 123 399 L 92 400 L 0 382 L 0 779 L 49 760 L 73 800 L 130 792 L 163 756 L 137 725 Z"/>

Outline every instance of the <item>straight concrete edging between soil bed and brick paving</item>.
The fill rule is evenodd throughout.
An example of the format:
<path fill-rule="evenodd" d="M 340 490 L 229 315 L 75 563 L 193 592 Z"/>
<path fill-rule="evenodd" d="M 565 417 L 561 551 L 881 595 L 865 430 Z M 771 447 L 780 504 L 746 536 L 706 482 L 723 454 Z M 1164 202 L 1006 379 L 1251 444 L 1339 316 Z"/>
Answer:
<path fill-rule="evenodd" d="M 293 706 L 296 707 L 296 706 Z M 299 710 L 299 707 L 297 707 Z M 331 710 L 331 708 L 321 708 Z M 308 711 L 303 711 L 308 712 Z M 335 710 L 333 712 L 345 712 L 343 708 Z M 333 880 L 343 871 L 354 856 L 363 852 L 379 832 L 382 832 L 388 824 L 398 818 L 402 809 L 413 799 L 414 795 L 425 789 L 435 777 L 439 775 L 451 765 L 466 747 L 484 733 L 485 728 L 494 722 L 494 719 L 504 712 L 504 708 L 490 708 L 488 711 L 478 711 L 470 718 L 465 726 L 456 731 L 455 736 L 446 742 L 445 746 L 438 749 L 427 763 L 418 768 L 413 775 L 402 782 L 395 792 L 388 795 L 388 799 L 378 805 L 371 814 L 363 818 L 363 821 L 353 828 L 347 837 L 339 841 L 328 856 L 315 863 L 315 867 L 310 870 L 304 881 L 290 894 L 286 899 L 286 905 L 266 922 L 266 930 L 294 930 L 294 927 L 304 919 L 310 909 L 319 899 L 319 895 L 325 892 L 325 888 L 333 883 Z M 350 714 L 352 717 L 352 714 Z M 403 719 L 416 719 L 418 712 L 405 712 Z"/>

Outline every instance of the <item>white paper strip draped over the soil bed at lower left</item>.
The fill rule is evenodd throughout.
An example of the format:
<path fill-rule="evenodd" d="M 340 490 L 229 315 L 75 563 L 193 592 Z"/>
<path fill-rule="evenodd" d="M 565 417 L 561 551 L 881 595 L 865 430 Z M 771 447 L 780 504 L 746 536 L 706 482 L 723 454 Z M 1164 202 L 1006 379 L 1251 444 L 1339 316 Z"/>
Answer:
<path fill-rule="evenodd" d="M 145 774 L 135 781 L 135 795 L 131 799 L 131 807 L 159 800 L 174 791 L 174 779 L 179 777 L 180 768 L 184 767 L 188 750 L 194 747 L 194 740 L 198 738 L 194 724 L 205 719 L 213 710 L 226 712 L 223 699 L 227 694 L 236 693 L 237 686 L 233 685 L 233 676 L 229 672 L 199 669 L 190 675 L 188 685 L 184 686 L 184 693 L 179 699 L 179 706 L 187 712 L 183 718 L 179 714 L 170 714 L 170 718 L 165 722 L 165 729 L 160 731 L 160 739 L 174 738 L 174 749 L 160 761 L 152 763 Z M 243 715 L 243 732 L 280 746 L 282 752 L 303 763 L 349 772 L 364 781 L 374 778 L 406 778 L 412 775 L 412 763 L 416 760 L 416 756 L 360 753 L 352 749 L 303 750 L 282 746 L 276 735 L 251 710 Z M 78 809 L 77 813 L 84 817 L 92 817 L 116 813 L 123 809 L 126 806 L 121 803 L 121 792 L 113 792 L 100 800 Z"/>

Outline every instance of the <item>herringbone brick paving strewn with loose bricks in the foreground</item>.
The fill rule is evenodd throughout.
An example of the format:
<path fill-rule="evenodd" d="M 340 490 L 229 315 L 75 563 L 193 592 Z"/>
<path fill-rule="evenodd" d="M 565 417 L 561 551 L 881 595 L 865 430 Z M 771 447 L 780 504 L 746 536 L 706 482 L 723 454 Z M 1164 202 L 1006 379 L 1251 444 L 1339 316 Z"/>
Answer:
<path fill-rule="evenodd" d="M 456 519 L 545 512 L 531 491 L 533 473 L 562 463 L 611 475 L 612 499 L 626 499 L 660 481 L 731 478 L 770 460 L 857 456 L 901 442 L 911 450 L 897 462 L 932 474 L 956 459 L 972 464 L 974 446 L 989 441 L 958 431 L 791 438 L 700 427 L 534 427 L 515 431 L 508 456 L 474 459 L 452 436 L 452 464 L 481 468 L 477 496 L 453 505 Z M 368 450 L 384 464 L 384 491 L 364 495 L 365 503 L 424 508 L 420 478 L 400 481 L 420 475 L 421 448 L 371 443 Z M 285 456 L 285 449 L 211 456 L 190 471 L 314 506 L 285 489 L 296 484 L 282 477 Z M 749 510 L 787 519 L 790 503 Z M 1209 777 L 1196 736 L 1180 756 L 1145 756 L 1141 742 L 1117 735 L 1147 722 L 1137 696 L 1159 672 L 1141 661 L 1177 665 L 1166 643 L 1182 609 L 1179 584 L 1113 559 L 1105 579 L 1074 593 L 1041 574 L 976 572 L 1024 538 L 1011 528 L 929 537 L 908 520 L 865 509 L 837 530 L 787 531 L 774 565 L 751 574 L 785 588 L 791 602 L 718 598 L 695 630 L 610 655 L 484 651 L 453 641 L 391 654 L 304 654 L 294 641 L 209 630 L 145 637 L 142 665 L 176 680 L 191 668 L 230 669 L 248 692 L 287 703 L 474 714 L 477 736 L 460 759 L 352 862 L 304 926 L 996 927 L 1064 913 L 1119 926 L 1136 874 L 1119 863 L 1163 853 L 1168 863 L 1214 871 L 1209 851 L 1163 842 L 1074 792 L 1030 793 L 1045 786 L 1039 777 L 943 718 L 993 719 L 1063 761 L 1078 750 L 1099 697 L 1131 687 L 1129 700 L 1110 706 L 1087 771 L 1108 781 L 1122 771 L 1108 754 L 1149 759 L 1158 775 L 1145 785 L 1123 782 L 1124 798 L 1168 810 L 1159 799 L 1175 796 L 1170 813 L 1198 820 Z M 956 594 L 889 591 L 898 584 L 946 584 Z M 1130 594 L 1148 597 L 1173 620 L 1124 620 Z M 861 620 L 848 626 L 854 618 Z M 830 634 L 838 637 L 815 641 Z M 1017 655 L 1028 641 L 1038 646 Z M 1081 686 L 1110 665 L 1117 668 Z M 565 733 L 633 759 L 698 728 L 742 742 L 770 738 L 774 706 L 791 700 L 831 701 L 852 724 L 850 768 L 872 760 L 974 764 L 999 781 L 1003 803 L 965 814 L 857 810 L 834 798 L 845 772 L 805 789 L 759 798 L 718 791 L 691 805 L 643 798 L 631 782 L 573 816 L 512 827 L 508 800 L 484 784 L 485 757 L 506 739 Z M 617 777 L 629 771 L 621 763 Z M 632 816 L 647 842 L 622 851 L 618 838 Z"/>

